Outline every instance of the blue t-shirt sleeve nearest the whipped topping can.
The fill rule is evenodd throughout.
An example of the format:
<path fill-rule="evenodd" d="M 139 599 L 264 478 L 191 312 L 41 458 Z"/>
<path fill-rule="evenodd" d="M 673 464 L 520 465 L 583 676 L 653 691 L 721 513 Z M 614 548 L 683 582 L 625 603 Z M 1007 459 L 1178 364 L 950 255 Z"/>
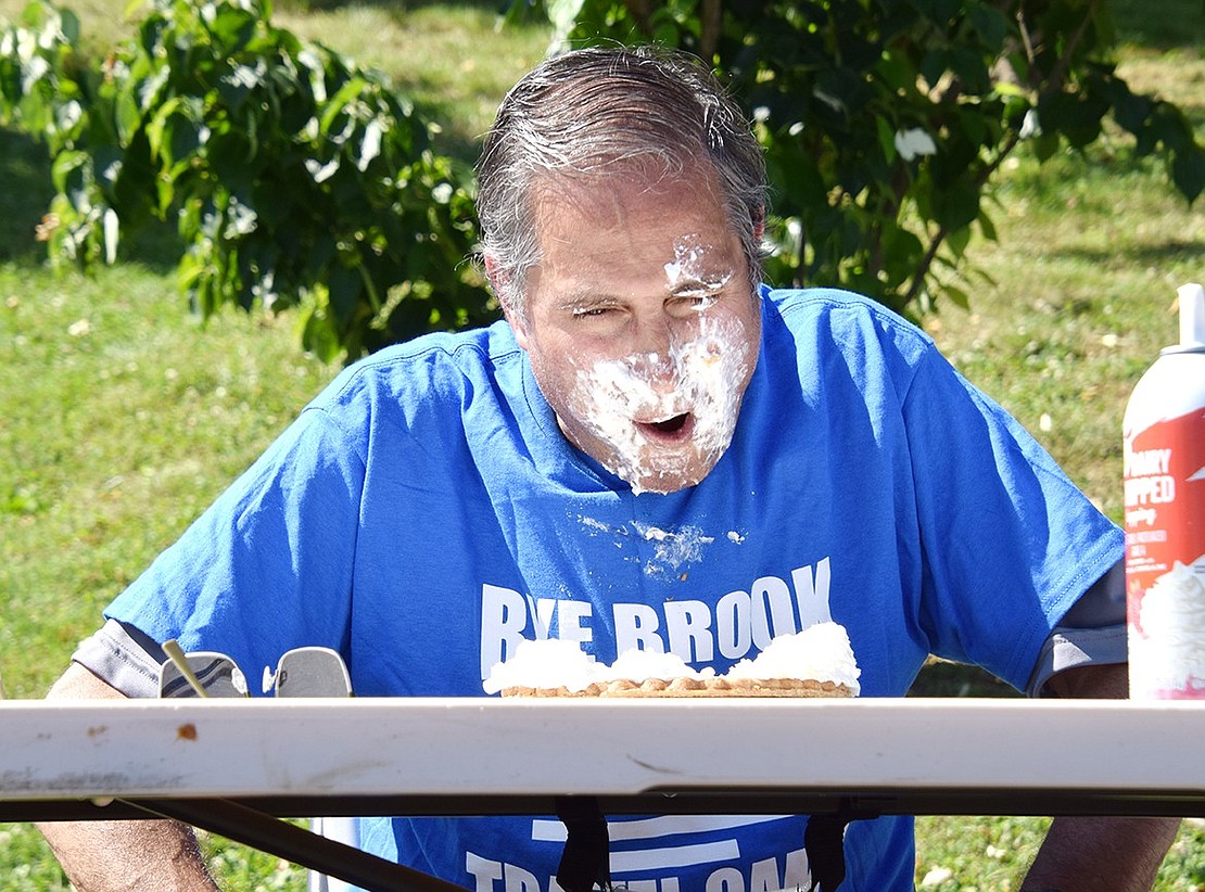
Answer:
<path fill-rule="evenodd" d="M 919 622 L 933 652 L 1027 691 L 1074 664 L 1063 660 L 1076 649 L 1080 660 L 1116 643 L 1116 630 L 1101 631 L 1110 624 L 1098 595 L 1074 606 L 1122 559 L 1121 530 L 935 349 L 904 413 L 923 550 Z M 1050 667 L 1036 668 L 1047 656 Z"/>

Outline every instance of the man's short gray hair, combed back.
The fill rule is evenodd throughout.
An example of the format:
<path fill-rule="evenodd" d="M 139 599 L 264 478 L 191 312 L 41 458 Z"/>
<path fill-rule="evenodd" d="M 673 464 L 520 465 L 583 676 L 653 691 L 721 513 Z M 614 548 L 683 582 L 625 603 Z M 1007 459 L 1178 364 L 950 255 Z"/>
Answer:
<path fill-rule="evenodd" d="M 715 170 L 729 226 L 760 278 L 765 161 L 736 102 L 694 57 L 653 49 L 580 49 L 543 61 L 506 95 L 477 163 L 482 253 L 505 307 L 522 312 L 540 262 L 537 178 Z"/>

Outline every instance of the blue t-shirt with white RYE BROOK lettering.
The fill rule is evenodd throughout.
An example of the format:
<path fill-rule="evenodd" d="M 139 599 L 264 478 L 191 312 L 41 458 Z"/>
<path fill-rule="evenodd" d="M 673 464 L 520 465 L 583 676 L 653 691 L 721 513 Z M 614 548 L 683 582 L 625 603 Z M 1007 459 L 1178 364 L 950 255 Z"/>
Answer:
<path fill-rule="evenodd" d="M 930 652 L 1023 689 L 1121 532 L 917 327 L 841 291 L 762 303 L 733 443 L 696 486 L 634 495 L 570 445 L 505 324 L 425 336 L 342 372 L 107 615 L 251 678 L 328 645 L 359 696 L 484 696 L 493 663 L 545 636 L 723 673 L 827 619 L 864 697 L 903 696 Z M 806 887 L 803 820 L 616 822 L 612 875 Z M 557 890 L 556 819 L 362 833 L 471 888 Z M 912 888 L 910 820 L 853 822 L 846 858 L 844 890 Z"/>

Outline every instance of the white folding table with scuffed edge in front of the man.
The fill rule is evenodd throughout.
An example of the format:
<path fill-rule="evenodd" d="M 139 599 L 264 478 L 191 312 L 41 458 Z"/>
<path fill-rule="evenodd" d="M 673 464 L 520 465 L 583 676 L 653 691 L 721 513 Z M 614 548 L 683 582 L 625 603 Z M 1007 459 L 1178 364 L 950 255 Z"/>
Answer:
<path fill-rule="evenodd" d="M 313 859 L 337 850 L 266 816 L 574 803 L 604 815 L 1205 815 L 1205 703 L 0 702 L 0 821 L 159 814 L 327 870 Z"/>

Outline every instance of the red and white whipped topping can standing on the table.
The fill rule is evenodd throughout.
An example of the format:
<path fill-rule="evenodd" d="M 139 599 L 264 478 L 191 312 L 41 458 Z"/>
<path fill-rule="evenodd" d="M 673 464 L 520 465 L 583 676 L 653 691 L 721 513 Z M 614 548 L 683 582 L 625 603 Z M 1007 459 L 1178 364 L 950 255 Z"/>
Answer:
<path fill-rule="evenodd" d="M 1205 289 L 1178 296 L 1180 343 L 1139 380 L 1122 423 L 1135 699 L 1205 701 Z"/>

